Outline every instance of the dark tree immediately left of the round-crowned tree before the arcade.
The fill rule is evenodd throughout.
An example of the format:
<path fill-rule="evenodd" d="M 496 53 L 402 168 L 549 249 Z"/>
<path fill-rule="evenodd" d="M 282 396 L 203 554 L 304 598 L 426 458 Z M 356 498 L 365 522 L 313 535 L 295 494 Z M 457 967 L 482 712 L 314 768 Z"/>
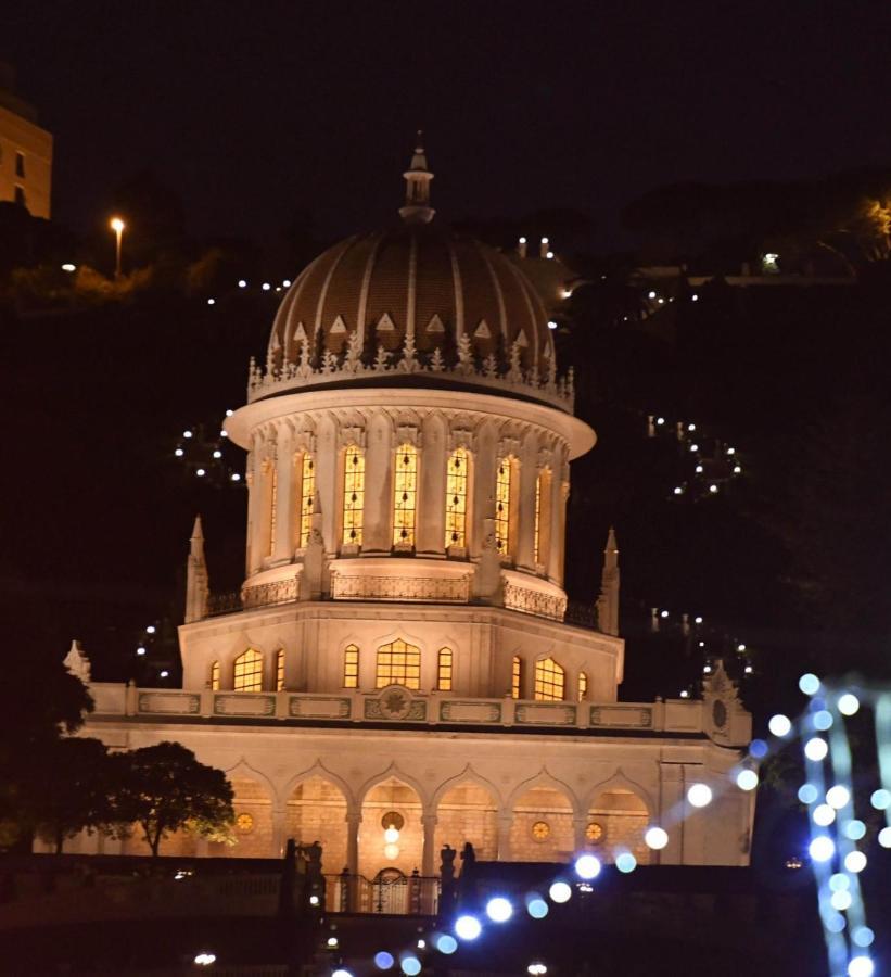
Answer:
<path fill-rule="evenodd" d="M 112 822 L 113 766 L 105 744 L 90 737 L 59 740 L 48 759 L 52 776 L 35 785 L 33 814 L 38 834 L 61 854 L 66 838 Z"/>

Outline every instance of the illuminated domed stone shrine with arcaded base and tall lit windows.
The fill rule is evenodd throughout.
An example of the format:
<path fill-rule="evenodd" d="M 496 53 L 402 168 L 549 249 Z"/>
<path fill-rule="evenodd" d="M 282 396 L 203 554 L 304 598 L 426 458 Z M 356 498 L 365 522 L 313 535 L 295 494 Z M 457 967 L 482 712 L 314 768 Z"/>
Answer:
<path fill-rule="evenodd" d="M 702 700 L 619 701 L 612 533 L 599 594 L 580 610 L 563 589 L 570 464 L 595 433 L 523 262 L 442 227 L 432 178 L 419 148 L 399 221 L 290 287 L 226 422 L 247 453 L 241 592 L 211 595 L 196 521 L 182 688 L 93 683 L 87 733 L 177 739 L 227 772 L 236 846 L 168 852 L 318 841 L 332 878 L 368 880 L 432 877 L 466 841 L 483 860 L 746 864 L 750 716 L 720 668 Z"/>

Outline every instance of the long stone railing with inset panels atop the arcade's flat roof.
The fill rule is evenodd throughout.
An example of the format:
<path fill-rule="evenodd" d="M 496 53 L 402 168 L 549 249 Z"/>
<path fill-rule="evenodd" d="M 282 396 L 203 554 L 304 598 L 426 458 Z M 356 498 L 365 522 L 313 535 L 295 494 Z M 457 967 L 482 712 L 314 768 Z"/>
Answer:
<path fill-rule="evenodd" d="M 354 725 L 408 724 L 468 728 L 576 729 L 580 732 L 674 733 L 700 735 L 711 728 L 702 700 L 655 702 L 539 702 L 411 691 L 389 686 L 374 693 L 339 689 L 331 694 L 294 691 L 237 693 L 140 689 L 111 683 L 90 687 L 96 720 L 115 715 L 178 718 L 181 722 L 257 722 Z M 730 706 L 726 727 L 730 740 L 748 743 L 751 716 Z M 91 720 L 92 721 L 92 720 Z M 709 734 L 711 735 L 711 734 Z"/>

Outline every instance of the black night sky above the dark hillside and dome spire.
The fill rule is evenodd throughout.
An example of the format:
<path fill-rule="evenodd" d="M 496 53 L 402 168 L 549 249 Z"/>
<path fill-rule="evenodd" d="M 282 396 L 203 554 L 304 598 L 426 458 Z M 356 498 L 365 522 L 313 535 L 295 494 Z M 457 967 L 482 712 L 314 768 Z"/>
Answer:
<path fill-rule="evenodd" d="M 200 236 L 392 217 L 413 130 L 448 218 L 619 211 L 677 180 L 891 160 L 887 3 L 4 4 L 0 59 L 55 135 L 55 216 L 151 169 Z"/>

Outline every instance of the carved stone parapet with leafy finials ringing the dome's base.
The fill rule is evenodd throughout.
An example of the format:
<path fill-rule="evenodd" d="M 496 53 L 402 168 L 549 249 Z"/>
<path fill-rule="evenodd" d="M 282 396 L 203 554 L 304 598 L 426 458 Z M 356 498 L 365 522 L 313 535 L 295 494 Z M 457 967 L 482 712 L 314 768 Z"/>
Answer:
<path fill-rule="evenodd" d="M 352 337 L 355 335 L 351 333 Z M 301 341 L 300 359 L 296 363 L 276 365 L 270 356 L 266 370 L 263 371 L 252 357 L 247 371 L 247 403 L 259 401 L 271 394 L 280 394 L 290 390 L 307 386 L 341 384 L 344 380 L 392 379 L 411 373 L 427 375 L 438 380 L 451 380 L 455 383 L 473 383 L 475 386 L 491 388 L 498 393 L 512 393 L 518 396 L 534 396 L 545 401 L 560 410 L 572 414 L 575 402 L 575 389 L 572 368 L 564 377 L 557 376 L 553 358 L 546 360 L 544 372 L 536 368 L 520 368 L 520 348 L 512 350 L 507 358 L 487 356 L 479 361 L 468 344 L 459 345 L 457 358 L 448 363 L 437 347 L 432 354 L 420 354 L 413 347 L 413 340 L 406 339 L 402 356 L 394 363 L 393 357 L 382 346 L 376 355 L 360 354 L 356 342 L 347 342 L 346 350 L 340 356 L 327 350 L 320 359 L 309 354 L 309 342 Z"/>

